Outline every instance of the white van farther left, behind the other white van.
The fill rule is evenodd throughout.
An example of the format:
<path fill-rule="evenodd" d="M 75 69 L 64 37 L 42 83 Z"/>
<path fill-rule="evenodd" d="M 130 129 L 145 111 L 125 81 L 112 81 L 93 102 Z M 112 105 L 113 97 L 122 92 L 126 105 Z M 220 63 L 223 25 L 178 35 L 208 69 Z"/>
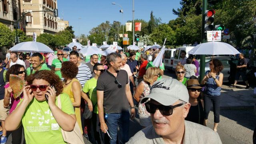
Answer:
<path fill-rule="evenodd" d="M 164 52 L 164 67 L 168 70 L 172 70 L 173 56 L 176 48 L 166 49 Z"/>

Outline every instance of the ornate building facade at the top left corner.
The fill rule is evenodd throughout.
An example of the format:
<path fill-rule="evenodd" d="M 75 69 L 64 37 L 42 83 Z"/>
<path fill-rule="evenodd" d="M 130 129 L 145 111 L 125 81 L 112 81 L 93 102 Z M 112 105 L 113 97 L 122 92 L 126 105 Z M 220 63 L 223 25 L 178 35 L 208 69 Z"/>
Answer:
<path fill-rule="evenodd" d="M 15 28 L 16 20 L 19 18 L 18 0 L 0 0 L 0 22 L 11 30 Z"/>

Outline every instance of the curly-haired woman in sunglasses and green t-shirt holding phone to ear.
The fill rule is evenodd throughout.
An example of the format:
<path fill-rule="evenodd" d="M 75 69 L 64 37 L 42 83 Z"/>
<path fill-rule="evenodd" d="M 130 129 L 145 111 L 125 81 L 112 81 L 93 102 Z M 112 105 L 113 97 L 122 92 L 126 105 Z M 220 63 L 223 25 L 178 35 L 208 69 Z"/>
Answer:
<path fill-rule="evenodd" d="M 23 99 L 6 118 L 6 130 L 16 130 L 22 124 L 28 144 L 66 144 L 61 129 L 73 130 L 76 116 L 69 96 L 62 93 L 60 78 L 53 71 L 40 70 L 26 80 Z M 56 96 L 60 97 L 61 109 Z"/>

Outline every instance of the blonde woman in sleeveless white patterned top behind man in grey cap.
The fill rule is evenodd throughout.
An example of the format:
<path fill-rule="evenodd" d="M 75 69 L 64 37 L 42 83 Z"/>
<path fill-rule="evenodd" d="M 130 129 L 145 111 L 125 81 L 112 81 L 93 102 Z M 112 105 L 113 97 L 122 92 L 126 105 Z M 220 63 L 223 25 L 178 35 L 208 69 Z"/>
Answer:
<path fill-rule="evenodd" d="M 143 76 L 143 80 L 140 82 L 140 84 L 136 88 L 136 91 L 134 94 L 134 98 L 137 102 L 139 102 L 142 98 L 148 96 L 151 86 L 158 78 L 158 74 L 159 74 L 159 68 L 150 67 L 147 69 L 146 74 Z M 138 107 L 139 107 L 138 114 L 140 117 L 140 125 L 143 128 L 152 125 L 150 113 L 147 112 L 145 108 L 145 103 L 140 104 L 139 102 Z"/>

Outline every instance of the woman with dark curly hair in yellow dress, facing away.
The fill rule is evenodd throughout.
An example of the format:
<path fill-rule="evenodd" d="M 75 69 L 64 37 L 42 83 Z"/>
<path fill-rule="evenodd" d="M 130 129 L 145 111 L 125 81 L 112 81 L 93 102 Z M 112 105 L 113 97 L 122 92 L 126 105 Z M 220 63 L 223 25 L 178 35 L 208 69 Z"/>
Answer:
<path fill-rule="evenodd" d="M 78 67 L 73 62 L 63 62 L 62 67 L 60 68 L 62 77 L 64 78 L 63 82 L 63 92 L 69 95 L 69 98 L 74 106 L 76 121 L 82 130 L 81 114 L 80 114 L 80 104 L 81 104 L 81 89 L 82 86 L 76 75 L 78 74 Z"/>

